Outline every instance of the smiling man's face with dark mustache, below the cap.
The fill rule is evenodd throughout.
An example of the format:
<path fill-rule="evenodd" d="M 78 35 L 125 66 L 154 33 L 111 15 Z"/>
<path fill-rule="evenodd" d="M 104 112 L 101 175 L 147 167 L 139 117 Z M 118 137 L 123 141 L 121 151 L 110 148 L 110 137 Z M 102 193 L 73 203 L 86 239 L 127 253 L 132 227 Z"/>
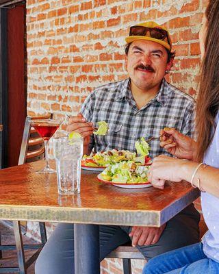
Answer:
<path fill-rule="evenodd" d="M 165 47 L 157 42 L 137 40 L 131 43 L 127 55 L 127 71 L 131 83 L 141 90 L 159 87 L 165 71 L 171 67 Z"/>

